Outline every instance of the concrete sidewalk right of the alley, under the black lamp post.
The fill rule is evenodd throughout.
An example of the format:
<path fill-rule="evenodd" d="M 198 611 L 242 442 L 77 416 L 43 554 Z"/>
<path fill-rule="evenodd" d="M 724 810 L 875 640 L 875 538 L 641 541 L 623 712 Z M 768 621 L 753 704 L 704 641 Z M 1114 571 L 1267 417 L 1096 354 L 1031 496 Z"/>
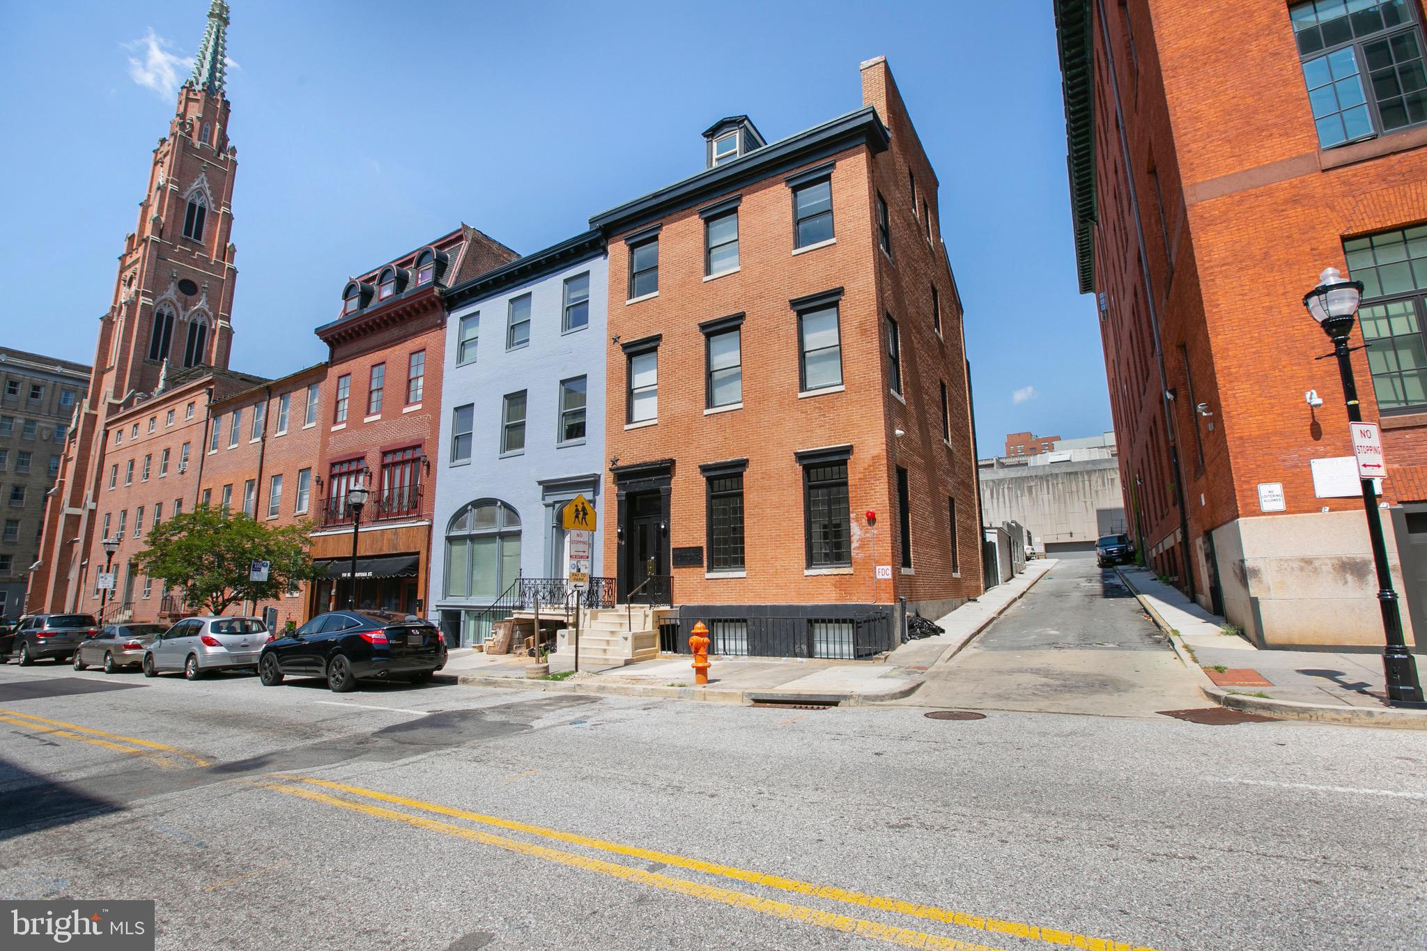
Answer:
<path fill-rule="evenodd" d="M 1259 650 L 1152 572 L 1123 567 L 1120 576 L 1176 634 L 1170 642 L 1210 700 L 1276 717 L 1427 730 L 1427 711 L 1387 706 L 1381 654 Z"/>

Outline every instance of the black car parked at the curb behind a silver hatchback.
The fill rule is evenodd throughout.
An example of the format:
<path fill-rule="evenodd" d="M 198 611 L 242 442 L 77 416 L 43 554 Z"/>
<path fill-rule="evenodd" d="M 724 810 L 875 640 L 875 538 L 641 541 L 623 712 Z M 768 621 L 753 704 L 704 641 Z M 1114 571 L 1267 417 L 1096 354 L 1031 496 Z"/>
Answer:
<path fill-rule="evenodd" d="M 258 677 L 267 687 L 283 677 L 327 677 L 335 693 L 347 693 L 360 680 L 425 683 L 445 662 L 445 636 L 430 620 L 385 610 L 335 610 L 270 640 L 258 657 Z"/>

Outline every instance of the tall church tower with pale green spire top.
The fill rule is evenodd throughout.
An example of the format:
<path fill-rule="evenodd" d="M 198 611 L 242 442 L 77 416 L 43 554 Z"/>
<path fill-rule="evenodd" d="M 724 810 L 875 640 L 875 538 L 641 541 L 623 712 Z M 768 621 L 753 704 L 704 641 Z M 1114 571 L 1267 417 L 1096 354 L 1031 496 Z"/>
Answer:
<path fill-rule="evenodd" d="M 88 392 L 76 406 L 46 503 L 27 613 L 78 606 L 87 577 L 83 559 L 94 542 L 107 419 L 151 396 L 176 372 L 228 365 L 237 150 L 228 143 L 224 94 L 227 30 L 228 4 L 213 0 L 193 76 L 180 87 L 168 134 L 153 153 L 138 224 L 118 255 Z"/>

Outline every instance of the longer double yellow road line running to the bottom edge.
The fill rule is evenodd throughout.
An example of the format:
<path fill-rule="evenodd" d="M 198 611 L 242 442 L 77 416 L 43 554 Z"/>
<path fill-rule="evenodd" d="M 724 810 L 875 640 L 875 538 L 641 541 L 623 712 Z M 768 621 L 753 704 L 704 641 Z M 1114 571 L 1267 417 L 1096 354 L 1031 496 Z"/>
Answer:
<path fill-rule="evenodd" d="M 946 951 L 996 951 L 995 948 L 989 948 L 983 944 L 973 944 L 958 938 L 928 934 L 915 928 L 889 925 L 855 915 L 822 911 L 806 905 L 778 901 L 775 898 L 765 898 L 733 888 L 723 888 L 719 885 L 665 875 L 656 871 L 646 871 L 644 868 L 606 861 L 586 854 L 551 848 L 549 845 L 527 840 L 497 836 L 482 831 L 481 828 L 472 828 L 469 824 L 450 823 L 442 818 L 432 818 L 431 816 L 462 820 L 464 823 L 521 833 L 535 838 L 552 840 L 625 858 L 656 863 L 659 865 L 685 868 L 688 871 L 701 873 L 715 878 L 731 878 L 751 885 L 761 885 L 776 891 L 805 895 L 808 898 L 819 898 L 845 905 L 869 908 L 873 911 L 909 915 L 913 918 L 935 921 L 938 924 L 959 925 L 986 932 L 987 935 L 997 935 L 997 938 L 993 940 L 999 940 L 1000 937 L 1020 938 L 1055 947 L 1082 948 L 1083 951 L 1153 951 L 1152 948 L 1132 945 L 1123 941 L 1113 941 L 1110 938 L 1096 938 L 1085 934 L 1076 934 L 1073 931 L 1047 928 L 1020 921 L 987 918 L 965 911 L 955 911 L 952 908 L 940 908 L 936 905 L 903 901 L 900 898 L 889 898 L 885 895 L 872 895 L 839 888 L 836 885 L 821 885 L 809 881 L 799 881 L 796 878 L 786 878 L 783 875 L 709 863 L 699 858 L 688 858 L 685 855 L 675 855 L 652 848 L 611 843 L 601 838 L 592 838 L 589 836 L 581 836 L 578 833 L 565 833 L 555 828 L 547 828 L 544 826 L 517 823 L 508 818 L 484 816 L 481 813 L 452 808 L 437 803 L 427 803 L 405 796 L 392 796 L 391 793 L 382 793 L 347 783 L 334 783 L 331 780 L 320 780 L 307 776 L 274 774 L 273 777 L 263 780 L 261 784 L 265 788 L 287 796 L 295 796 L 298 798 L 321 803 L 324 806 L 361 813 L 372 818 L 402 823 L 425 831 L 464 838 L 482 845 L 492 845 L 495 848 L 521 855 L 598 873 L 611 878 L 619 878 L 662 891 L 671 891 L 715 904 L 742 908 L 745 911 L 753 911 L 756 914 L 785 921 L 795 921 L 831 931 L 856 934 L 859 937 L 885 941 L 900 947 L 942 948 Z M 340 793 L 342 796 L 334 796 L 332 793 Z M 402 810 L 410 811 L 390 808 L 390 806 L 400 806 Z"/>

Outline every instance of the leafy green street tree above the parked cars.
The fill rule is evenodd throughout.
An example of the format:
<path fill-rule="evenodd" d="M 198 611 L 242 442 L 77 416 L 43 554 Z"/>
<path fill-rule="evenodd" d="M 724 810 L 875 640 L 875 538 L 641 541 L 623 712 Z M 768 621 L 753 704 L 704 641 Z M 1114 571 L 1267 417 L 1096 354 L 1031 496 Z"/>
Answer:
<path fill-rule="evenodd" d="M 150 577 L 183 587 L 193 610 L 221 615 L 245 600 L 281 597 L 318 572 L 308 555 L 305 525 L 268 528 L 243 512 L 205 505 L 148 530 L 148 549 L 134 557 Z M 270 562 L 265 582 L 248 580 L 253 562 Z"/>

